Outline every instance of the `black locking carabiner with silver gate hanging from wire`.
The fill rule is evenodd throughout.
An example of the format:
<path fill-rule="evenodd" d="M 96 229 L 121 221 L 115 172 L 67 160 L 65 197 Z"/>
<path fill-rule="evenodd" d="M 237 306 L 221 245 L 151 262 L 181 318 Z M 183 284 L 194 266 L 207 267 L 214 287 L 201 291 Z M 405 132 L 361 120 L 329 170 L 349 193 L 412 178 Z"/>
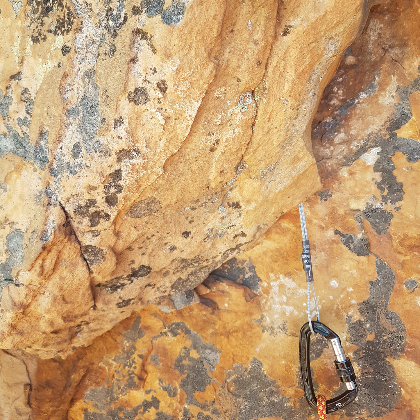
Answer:
<path fill-rule="evenodd" d="M 336 356 L 334 363 L 336 365 L 337 374 L 341 379 L 341 382 L 344 382 L 347 386 L 347 391 L 343 394 L 329 399 L 326 402 L 326 412 L 331 413 L 337 411 L 340 408 L 344 407 L 347 404 L 350 404 L 357 396 L 357 384 L 356 384 L 356 375 L 354 374 L 352 362 L 344 354 L 344 350 L 341 347 L 340 337 L 318 321 L 312 321 L 312 328 L 315 333 L 320 334 L 329 340 L 333 346 L 333 350 Z M 315 391 L 312 385 L 312 375 L 311 375 L 311 366 L 309 358 L 309 348 L 310 348 L 310 337 L 311 329 L 309 323 L 303 325 L 300 329 L 300 340 L 299 340 L 299 359 L 300 359 L 300 373 L 302 375 L 303 381 L 303 391 L 307 403 L 313 409 L 317 409 L 317 400 L 315 396 Z"/>

